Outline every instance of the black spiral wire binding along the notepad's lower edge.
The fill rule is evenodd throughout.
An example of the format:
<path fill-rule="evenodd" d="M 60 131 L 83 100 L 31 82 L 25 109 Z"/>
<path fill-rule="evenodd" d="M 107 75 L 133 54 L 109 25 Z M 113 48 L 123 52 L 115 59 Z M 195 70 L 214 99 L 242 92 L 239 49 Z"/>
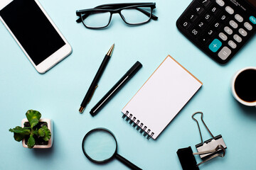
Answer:
<path fill-rule="evenodd" d="M 125 119 L 127 122 L 129 121 L 129 125 L 132 125 L 132 123 L 133 123 L 132 127 L 133 128 L 137 127 L 136 130 L 138 130 L 140 133 L 144 132 L 143 136 L 146 137 L 146 135 L 147 135 L 147 137 L 146 137 L 147 140 L 149 140 L 154 135 L 154 132 L 151 132 L 151 135 L 149 135 L 151 130 L 149 128 L 146 129 L 147 128 L 146 125 L 144 125 L 143 123 L 140 123 L 140 121 L 137 120 L 136 117 L 132 118 L 132 114 L 131 113 L 129 114 L 129 111 L 127 111 L 124 115 L 122 115 L 122 118 Z M 135 121 L 136 121 L 136 123 L 135 123 Z M 139 125 L 139 123 L 140 123 L 140 125 Z M 144 125 L 144 127 L 143 127 L 143 125 Z"/>

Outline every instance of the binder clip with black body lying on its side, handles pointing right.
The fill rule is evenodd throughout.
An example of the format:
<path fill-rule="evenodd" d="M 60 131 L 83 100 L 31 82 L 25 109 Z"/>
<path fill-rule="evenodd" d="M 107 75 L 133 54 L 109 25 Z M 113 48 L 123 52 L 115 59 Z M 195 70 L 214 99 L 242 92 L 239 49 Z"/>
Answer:
<path fill-rule="evenodd" d="M 219 150 L 223 151 L 223 154 L 216 153 Z M 213 154 L 211 157 L 208 157 L 208 159 L 204 160 L 203 162 L 200 162 L 199 164 L 196 163 L 196 158 L 194 157 L 194 155 L 212 154 L 212 153 L 215 153 L 215 154 Z M 222 145 L 218 145 L 217 147 L 215 147 L 215 149 L 212 149 L 212 150 L 193 153 L 191 147 L 186 147 L 186 148 L 178 149 L 177 154 L 183 170 L 199 170 L 198 166 L 205 162 L 208 162 L 210 159 L 213 159 L 215 157 L 225 157 L 225 149 Z"/>

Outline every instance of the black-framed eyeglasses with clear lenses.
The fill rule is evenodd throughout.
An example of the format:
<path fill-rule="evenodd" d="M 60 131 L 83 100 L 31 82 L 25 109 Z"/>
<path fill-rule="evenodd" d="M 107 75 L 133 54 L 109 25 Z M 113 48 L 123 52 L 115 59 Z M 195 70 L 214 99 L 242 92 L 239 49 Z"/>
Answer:
<path fill-rule="evenodd" d="M 153 15 L 156 3 L 126 3 L 126 4 L 105 4 L 95 8 L 76 11 L 79 16 L 77 23 L 86 28 L 106 28 L 110 25 L 113 13 L 119 13 L 124 23 L 128 25 L 141 25 L 148 23 L 151 19 L 157 20 Z"/>

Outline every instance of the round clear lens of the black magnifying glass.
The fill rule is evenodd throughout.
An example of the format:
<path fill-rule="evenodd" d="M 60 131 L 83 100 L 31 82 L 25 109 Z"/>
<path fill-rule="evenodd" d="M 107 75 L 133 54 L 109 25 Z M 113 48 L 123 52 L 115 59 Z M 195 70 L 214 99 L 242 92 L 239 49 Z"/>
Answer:
<path fill-rule="evenodd" d="M 104 162 L 114 155 L 117 143 L 109 132 L 95 131 L 87 136 L 82 147 L 91 159 Z"/>

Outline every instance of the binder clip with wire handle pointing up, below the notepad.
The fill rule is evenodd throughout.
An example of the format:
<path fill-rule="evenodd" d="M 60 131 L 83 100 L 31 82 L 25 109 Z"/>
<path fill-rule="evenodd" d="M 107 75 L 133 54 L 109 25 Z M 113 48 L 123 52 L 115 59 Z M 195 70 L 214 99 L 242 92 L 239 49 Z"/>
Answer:
<path fill-rule="evenodd" d="M 203 137 L 202 137 L 201 130 L 200 130 L 200 127 L 199 127 L 199 124 L 198 124 L 198 120 L 193 118 L 193 116 L 196 115 L 197 113 L 201 114 L 201 120 L 203 122 L 203 125 L 206 126 L 206 129 L 208 130 L 210 135 L 213 137 L 210 140 L 206 140 L 205 142 L 203 142 Z M 218 145 L 221 145 L 224 149 L 227 149 L 227 146 L 225 145 L 225 142 L 223 140 L 222 135 L 218 135 L 218 136 L 214 137 L 213 134 L 210 132 L 210 130 L 208 129 L 206 123 L 203 121 L 203 113 L 202 112 L 193 113 L 192 119 L 196 121 L 196 123 L 198 125 L 199 132 L 200 132 L 200 136 L 201 136 L 201 143 L 196 145 L 196 149 L 198 150 L 198 152 L 204 152 L 206 150 L 215 149 Z M 218 149 L 216 151 L 216 153 L 219 153 L 219 152 L 221 152 L 221 149 Z M 208 157 L 213 156 L 213 154 L 215 154 L 215 153 L 212 152 L 212 153 L 208 153 L 208 154 L 200 154 L 200 157 L 201 157 L 201 159 L 207 159 Z"/>

